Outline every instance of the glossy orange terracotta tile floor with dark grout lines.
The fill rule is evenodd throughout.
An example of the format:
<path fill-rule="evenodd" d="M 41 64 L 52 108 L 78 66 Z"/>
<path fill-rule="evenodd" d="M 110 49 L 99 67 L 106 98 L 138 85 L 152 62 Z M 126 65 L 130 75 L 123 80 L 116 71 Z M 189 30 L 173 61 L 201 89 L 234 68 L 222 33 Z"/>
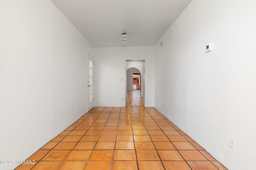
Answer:
<path fill-rule="evenodd" d="M 126 107 L 94 107 L 16 170 L 226 170 L 139 92 Z"/>

